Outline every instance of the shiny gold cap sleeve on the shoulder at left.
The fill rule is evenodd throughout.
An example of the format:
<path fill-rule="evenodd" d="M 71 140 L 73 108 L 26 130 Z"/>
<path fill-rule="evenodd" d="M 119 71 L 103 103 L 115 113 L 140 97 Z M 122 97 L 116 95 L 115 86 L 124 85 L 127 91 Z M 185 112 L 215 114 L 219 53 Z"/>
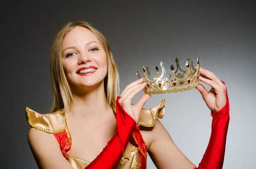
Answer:
<path fill-rule="evenodd" d="M 65 115 L 61 110 L 49 114 L 40 114 L 26 107 L 25 113 L 29 125 L 35 129 L 48 133 L 57 133 L 67 128 Z"/>

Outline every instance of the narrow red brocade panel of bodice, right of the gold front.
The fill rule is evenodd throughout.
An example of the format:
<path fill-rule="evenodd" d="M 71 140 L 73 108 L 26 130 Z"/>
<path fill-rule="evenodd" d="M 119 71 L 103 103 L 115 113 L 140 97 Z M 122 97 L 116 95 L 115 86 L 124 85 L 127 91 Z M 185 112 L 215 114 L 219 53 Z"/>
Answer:
<path fill-rule="evenodd" d="M 140 155 L 140 169 L 146 169 L 147 168 L 147 155 L 148 155 L 148 146 L 146 145 L 145 141 L 143 140 L 143 137 L 140 133 L 140 125 L 137 125 L 134 130 L 133 135 L 134 141 L 138 146 L 138 152 Z"/>

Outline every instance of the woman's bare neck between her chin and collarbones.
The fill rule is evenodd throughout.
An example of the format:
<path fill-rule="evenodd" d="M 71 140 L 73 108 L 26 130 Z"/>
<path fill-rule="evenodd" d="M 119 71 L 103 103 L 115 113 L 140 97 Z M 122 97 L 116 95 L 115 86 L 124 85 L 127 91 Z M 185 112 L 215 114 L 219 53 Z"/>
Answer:
<path fill-rule="evenodd" d="M 98 117 L 109 109 L 104 91 L 104 83 L 98 86 L 87 87 L 87 90 L 73 89 L 73 103 L 70 106 L 70 115 L 78 118 Z"/>

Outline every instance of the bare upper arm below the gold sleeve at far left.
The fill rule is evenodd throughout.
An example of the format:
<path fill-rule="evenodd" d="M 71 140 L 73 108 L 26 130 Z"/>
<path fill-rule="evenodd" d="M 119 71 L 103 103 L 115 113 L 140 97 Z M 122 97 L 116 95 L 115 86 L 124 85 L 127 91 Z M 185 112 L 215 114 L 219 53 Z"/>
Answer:
<path fill-rule="evenodd" d="M 73 169 L 61 154 L 54 135 L 30 128 L 28 141 L 39 169 Z"/>

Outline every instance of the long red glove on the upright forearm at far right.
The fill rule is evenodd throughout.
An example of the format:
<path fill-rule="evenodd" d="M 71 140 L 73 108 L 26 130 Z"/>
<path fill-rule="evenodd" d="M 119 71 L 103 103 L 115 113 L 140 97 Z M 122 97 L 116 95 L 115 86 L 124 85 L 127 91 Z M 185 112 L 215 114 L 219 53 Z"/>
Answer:
<path fill-rule="evenodd" d="M 229 112 L 230 107 L 227 96 L 226 105 L 218 112 L 211 112 L 212 132 L 209 144 L 201 163 L 199 164 L 198 168 L 195 169 L 222 169 L 225 155 L 227 129 L 230 120 Z"/>

